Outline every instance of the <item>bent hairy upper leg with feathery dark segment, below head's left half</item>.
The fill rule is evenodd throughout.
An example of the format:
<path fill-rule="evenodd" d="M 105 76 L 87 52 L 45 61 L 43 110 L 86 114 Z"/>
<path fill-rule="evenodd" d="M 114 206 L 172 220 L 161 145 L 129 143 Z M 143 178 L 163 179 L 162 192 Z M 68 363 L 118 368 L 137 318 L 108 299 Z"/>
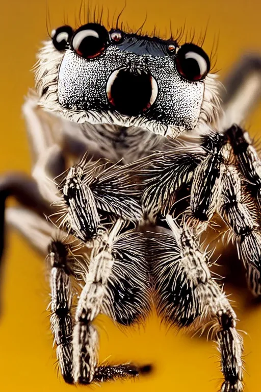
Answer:
<path fill-rule="evenodd" d="M 134 224 L 141 222 L 140 191 L 133 178 L 142 162 L 121 166 L 84 157 L 70 167 L 58 185 L 61 192 L 58 224 L 88 242 L 105 230 L 102 218 L 116 216 Z"/>

